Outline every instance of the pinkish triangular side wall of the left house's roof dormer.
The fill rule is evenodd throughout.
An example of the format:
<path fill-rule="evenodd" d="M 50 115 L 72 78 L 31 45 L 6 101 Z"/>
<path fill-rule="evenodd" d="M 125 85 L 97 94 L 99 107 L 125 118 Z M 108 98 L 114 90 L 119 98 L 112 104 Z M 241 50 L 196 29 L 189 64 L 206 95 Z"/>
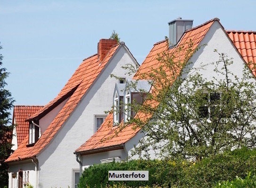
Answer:
<path fill-rule="evenodd" d="M 63 108 L 63 106 L 66 104 L 69 97 L 61 102 L 58 106 L 56 106 L 53 110 L 51 110 L 48 114 L 46 114 L 44 117 L 42 117 L 39 120 L 39 126 L 41 128 L 41 134 L 47 129 L 47 127 L 50 125 L 52 120 L 57 116 L 58 112 Z"/>

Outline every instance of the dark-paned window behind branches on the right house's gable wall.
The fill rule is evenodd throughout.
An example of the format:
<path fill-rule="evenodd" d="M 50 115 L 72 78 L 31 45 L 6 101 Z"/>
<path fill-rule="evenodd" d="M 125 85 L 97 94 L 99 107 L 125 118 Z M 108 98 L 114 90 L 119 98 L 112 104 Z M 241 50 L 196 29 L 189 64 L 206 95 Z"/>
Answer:
<path fill-rule="evenodd" d="M 206 101 L 205 102 L 206 105 L 199 107 L 199 118 L 208 118 L 209 115 L 213 114 L 216 110 L 216 107 L 214 105 L 209 105 L 209 104 L 220 100 L 220 94 L 219 93 L 204 93 L 203 100 Z"/>

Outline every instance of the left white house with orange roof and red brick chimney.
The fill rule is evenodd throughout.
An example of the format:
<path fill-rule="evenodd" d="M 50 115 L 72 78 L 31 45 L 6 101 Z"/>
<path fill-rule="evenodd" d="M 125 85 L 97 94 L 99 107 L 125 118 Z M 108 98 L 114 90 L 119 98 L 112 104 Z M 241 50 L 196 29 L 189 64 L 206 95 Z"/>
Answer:
<path fill-rule="evenodd" d="M 98 53 L 84 59 L 57 97 L 26 120 L 32 134 L 6 160 L 9 188 L 22 188 L 26 181 L 34 188 L 76 187 L 79 164 L 73 152 L 105 119 L 116 82 L 130 77 L 121 68 L 127 64 L 138 66 L 124 42 L 99 40 Z"/>

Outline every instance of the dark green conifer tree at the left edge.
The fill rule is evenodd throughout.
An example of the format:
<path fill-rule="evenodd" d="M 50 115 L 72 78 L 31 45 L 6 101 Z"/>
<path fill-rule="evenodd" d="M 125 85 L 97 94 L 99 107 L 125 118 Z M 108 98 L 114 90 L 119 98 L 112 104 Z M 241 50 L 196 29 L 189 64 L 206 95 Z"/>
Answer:
<path fill-rule="evenodd" d="M 2 47 L 0 46 L 0 49 Z M 8 186 L 8 165 L 4 161 L 10 156 L 12 150 L 12 130 L 14 125 L 10 123 L 10 112 L 13 107 L 13 98 L 11 93 L 5 89 L 7 83 L 5 79 L 9 73 L 5 68 L 2 68 L 3 56 L 0 54 L 0 187 Z"/>

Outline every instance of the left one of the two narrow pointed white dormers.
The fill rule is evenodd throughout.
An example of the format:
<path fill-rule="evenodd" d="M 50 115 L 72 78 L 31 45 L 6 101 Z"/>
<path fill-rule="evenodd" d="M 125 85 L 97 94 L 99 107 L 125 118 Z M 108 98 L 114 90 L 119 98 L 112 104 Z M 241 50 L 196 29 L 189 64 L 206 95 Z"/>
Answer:
<path fill-rule="evenodd" d="M 113 95 L 113 106 L 114 106 L 114 112 L 113 112 L 113 119 L 114 119 L 114 125 L 120 123 L 121 119 L 123 118 L 122 110 L 122 102 L 124 100 L 124 87 L 125 87 L 125 81 L 122 83 L 118 83 L 115 86 L 115 91 Z"/>

